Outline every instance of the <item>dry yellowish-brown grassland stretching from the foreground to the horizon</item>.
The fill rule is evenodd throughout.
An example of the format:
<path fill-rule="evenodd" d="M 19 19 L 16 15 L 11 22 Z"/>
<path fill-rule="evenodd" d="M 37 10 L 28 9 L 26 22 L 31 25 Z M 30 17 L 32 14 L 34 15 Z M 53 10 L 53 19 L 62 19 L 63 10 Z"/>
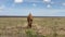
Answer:
<path fill-rule="evenodd" d="M 65 17 L 0 17 L 0 37 L 65 37 Z"/>

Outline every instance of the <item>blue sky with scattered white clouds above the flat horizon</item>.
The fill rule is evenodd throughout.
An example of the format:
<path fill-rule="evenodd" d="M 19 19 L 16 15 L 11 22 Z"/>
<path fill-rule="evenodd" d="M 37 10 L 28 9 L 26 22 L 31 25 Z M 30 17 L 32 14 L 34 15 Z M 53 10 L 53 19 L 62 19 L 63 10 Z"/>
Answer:
<path fill-rule="evenodd" d="M 65 0 L 0 0 L 0 15 L 65 16 Z"/>

